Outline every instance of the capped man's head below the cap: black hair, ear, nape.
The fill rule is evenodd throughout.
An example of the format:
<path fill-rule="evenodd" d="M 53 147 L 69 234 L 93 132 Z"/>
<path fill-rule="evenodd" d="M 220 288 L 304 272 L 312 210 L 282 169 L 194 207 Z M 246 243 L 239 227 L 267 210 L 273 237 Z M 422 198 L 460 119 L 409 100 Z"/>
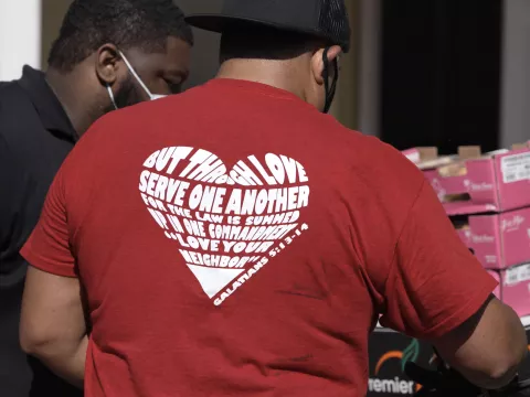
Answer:
<path fill-rule="evenodd" d="M 234 26 L 221 39 L 221 76 L 229 71 L 236 78 L 259 81 L 266 74 L 268 78 L 262 83 L 294 92 L 322 110 L 337 73 L 333 65 L 341 52 L 339 45 L 300 33 Z"/>

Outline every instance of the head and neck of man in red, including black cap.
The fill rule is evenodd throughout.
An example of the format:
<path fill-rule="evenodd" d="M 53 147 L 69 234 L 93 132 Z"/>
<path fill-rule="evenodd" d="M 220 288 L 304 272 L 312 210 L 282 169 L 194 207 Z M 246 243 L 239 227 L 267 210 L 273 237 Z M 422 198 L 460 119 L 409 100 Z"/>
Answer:
<path fill-rule="evenodd" d="M 222 33 L 219 77 L 273 85 L 329 110 L 350 42 L 343 0 L 224 0 L 220 14 L 187 20 Z"/>

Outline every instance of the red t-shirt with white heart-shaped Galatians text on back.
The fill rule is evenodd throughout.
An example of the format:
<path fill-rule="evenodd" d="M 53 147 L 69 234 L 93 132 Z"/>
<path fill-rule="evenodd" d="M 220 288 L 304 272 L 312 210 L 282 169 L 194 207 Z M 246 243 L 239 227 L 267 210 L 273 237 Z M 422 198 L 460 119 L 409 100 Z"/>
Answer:
<path fill-rule="evenodd" d="M 22 255 L 86 289 L 87 397 L 361 396 L 380 313 L 438 336 L 496 287 L 400 152 L 231 79 L 96 122 Z"/>

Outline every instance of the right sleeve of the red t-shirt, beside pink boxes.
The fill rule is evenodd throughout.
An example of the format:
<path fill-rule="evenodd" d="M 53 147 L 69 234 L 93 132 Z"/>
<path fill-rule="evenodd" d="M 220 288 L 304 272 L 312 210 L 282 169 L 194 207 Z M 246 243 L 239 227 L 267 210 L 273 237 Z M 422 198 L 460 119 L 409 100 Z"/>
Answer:
<path fill-rule="evenodd" d="M 425 181 L 389 267 L 381 323 L 414 337 L 438 337 L 456 329 L 497 286 L 460 242 Z"/>

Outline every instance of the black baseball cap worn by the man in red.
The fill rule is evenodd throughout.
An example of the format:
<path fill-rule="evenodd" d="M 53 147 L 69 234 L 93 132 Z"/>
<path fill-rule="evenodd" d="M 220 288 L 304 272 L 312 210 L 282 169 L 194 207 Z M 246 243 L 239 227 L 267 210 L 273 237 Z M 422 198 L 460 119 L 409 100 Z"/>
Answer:
<path fill-rule="evenodd" d="M 191 14 L 187 22 L 210 32 L 234 26 L 269 26 L 320 39 L 350 50 L 350 24 L 343 0 L 224 0 L 218 14 Z M 244 34 L 244 31 L 242 31 Z"/>

